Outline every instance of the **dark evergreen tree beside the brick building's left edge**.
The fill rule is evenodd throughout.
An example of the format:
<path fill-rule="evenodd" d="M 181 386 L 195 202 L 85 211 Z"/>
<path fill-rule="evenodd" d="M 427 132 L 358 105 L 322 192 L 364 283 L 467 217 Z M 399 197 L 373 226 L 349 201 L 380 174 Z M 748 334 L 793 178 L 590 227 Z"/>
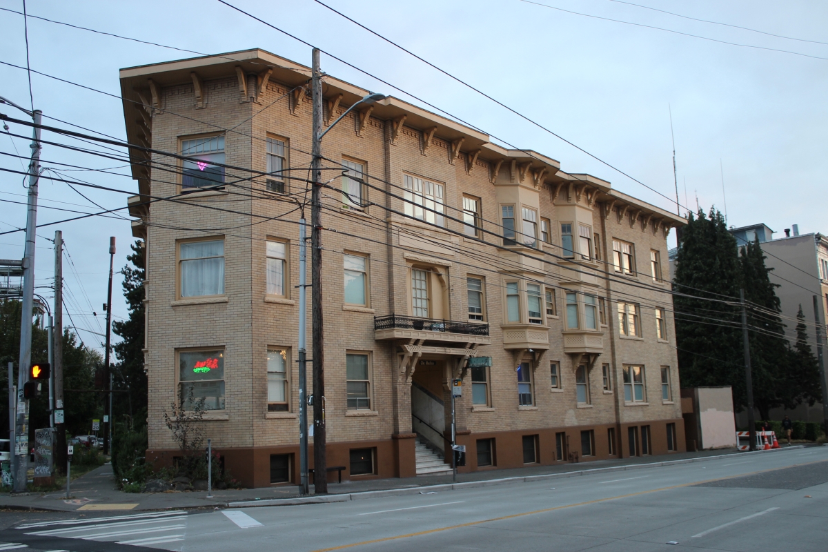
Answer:
<path fill-rule="evenodd" d="M 147 424 L 147 374 L 144 373 L 144 267 L 143 242 L 132 244 L 132 254 L 127 260 L 132 266 L 124 266 L 123 296 L 127 300 L 128 319 L 112 324 L 114 334 L 122 341 L 113 346 L 119 365 L 115 367 L 113 388 L 127 391 L 118 393 L 113 401 L 113 420 L 130 420 L 132 427 Z M 127 418 L 125 418 L 125 416 Z"/>

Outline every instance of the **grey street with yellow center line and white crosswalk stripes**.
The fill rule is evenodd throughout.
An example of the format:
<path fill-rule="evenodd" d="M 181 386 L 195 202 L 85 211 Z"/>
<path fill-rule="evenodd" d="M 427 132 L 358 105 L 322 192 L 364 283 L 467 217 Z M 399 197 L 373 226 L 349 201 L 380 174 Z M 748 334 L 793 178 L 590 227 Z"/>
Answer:
<path fill-rule="evenodd" d="M 25 516 L 0 530 L 0 552 L 824 552 L 828 447 L 330 504 L 109 513 Z"/>

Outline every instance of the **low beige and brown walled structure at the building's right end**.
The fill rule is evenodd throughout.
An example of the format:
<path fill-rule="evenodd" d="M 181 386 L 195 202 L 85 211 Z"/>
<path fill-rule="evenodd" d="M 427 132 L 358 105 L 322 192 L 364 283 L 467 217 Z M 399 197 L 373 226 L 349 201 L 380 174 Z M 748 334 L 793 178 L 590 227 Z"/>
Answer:
<path fill-rule="evenodd" d="M 730 386 L 682 389 L 681 415 L 688 452 L 736 447 L 736 418 Z"/>

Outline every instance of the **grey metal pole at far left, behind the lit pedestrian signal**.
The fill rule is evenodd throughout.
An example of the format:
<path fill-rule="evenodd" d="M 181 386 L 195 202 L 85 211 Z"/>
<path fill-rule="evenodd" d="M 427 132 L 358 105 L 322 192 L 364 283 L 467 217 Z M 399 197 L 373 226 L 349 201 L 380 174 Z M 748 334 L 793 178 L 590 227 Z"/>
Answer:
<path fill-rule="evenodd" d="M 29 163 L 29 195 L 26 211 L 26 249 L 23 254 L 23 300 L 20 317 L 20 362 L 17 364 L 20 377 L 17 389 L 22 389 L 23 373 L 31 364 L 31 313 L 35 292 L 35 230 L 37 228 L 37 185 L 41 174 L 41 111 L 31 113 L 35 127 L 31 138 L 31 162 Z M 24 412 L 26 408 L 24 406 Z M 18 416 L 19 417 L 19 416 Z M 22 433 L 19 433 L 22 436 Z M 28 450 L 23 451 L 24 455 Z M 26 491 L 26 461 L 18 458 L 17 477 L 14 479 L 15 492 Z"/>

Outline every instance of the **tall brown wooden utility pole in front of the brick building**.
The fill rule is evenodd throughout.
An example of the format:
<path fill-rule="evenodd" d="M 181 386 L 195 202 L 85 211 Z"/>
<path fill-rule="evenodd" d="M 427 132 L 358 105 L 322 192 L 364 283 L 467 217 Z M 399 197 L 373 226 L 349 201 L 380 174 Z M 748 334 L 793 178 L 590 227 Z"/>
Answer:
<path fill-rule="evenodd" d="M 313 49 L 313 147 L 310 161 L 313 193 L 310 196 L 310 286 L 311 318 L 313 319 L 313 457 L 314 492 L 328 492 L 328 462 L 325 456 L 325 365 L 324 334 L 322 330 L 322 218 L 320 195 L 322 178 L 322 74 L 319 67 L 319 49 Z"/>

